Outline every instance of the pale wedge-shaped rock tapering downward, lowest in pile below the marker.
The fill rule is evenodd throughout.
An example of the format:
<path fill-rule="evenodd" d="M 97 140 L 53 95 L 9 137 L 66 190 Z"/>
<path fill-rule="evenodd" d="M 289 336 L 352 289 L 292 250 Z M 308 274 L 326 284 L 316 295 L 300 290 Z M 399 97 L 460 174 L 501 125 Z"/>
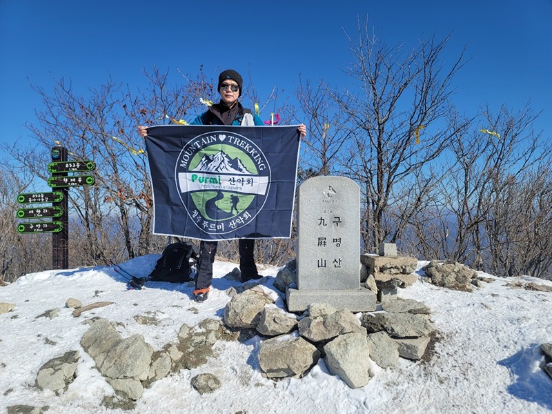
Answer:
<path fill-rule="evenodd" d="M 346 333 L 324 345 L 326 367 L 333 375 L 339 377 L 351 388 L 368 384 L 370 374 L 370 351 L 366 335 Z"/>

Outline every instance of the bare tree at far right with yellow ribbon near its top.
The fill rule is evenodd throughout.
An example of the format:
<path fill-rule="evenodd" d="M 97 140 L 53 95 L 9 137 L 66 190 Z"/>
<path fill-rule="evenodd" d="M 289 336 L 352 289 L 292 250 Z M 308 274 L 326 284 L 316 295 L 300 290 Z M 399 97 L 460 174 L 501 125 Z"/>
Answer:
<path fill-rule="evenodd" d="M 456 226 L 446 257 L 480 269 L 492 243 L 482 233 L 492 219 L 491 206 L 513 185 L 509 177 L 531 170 L 542 157 L 540 140 L 530 128 L 535 115 L 529 108 L 512 114 L 502 107 L 495 117 L 489 110 L 484 114 L 485 128 L 451 139 L 448 155 L 455 169 L 451 179 L 442 182 L 446 209 L 453 213 L 449 229 Z"/>

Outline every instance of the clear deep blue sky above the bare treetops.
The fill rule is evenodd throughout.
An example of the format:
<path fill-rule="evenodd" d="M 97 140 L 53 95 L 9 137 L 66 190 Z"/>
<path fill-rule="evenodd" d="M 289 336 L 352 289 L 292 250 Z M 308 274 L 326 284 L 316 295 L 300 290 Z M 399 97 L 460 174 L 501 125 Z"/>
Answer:
<path fill-rule="evenodd" d="M 531 100 L 551 138 L 552 0 L 0 0 L 0 142 L 28 141 L 24 124 L 42 105 L 30 84 L 48 93 L 61 77 L 83 95 L 108 77 L 143 87 L 153 66 L 175 82 L 177 69 L 203 65 L 215 78 L 234 68 L 262 97 L 273 86 L 293 97 L 299 75 L 346 86 L 345 32 L 355 37 L 359 17 L 389 45 L 452 32 L 445 59 L 466 44 L 473 57 L 455 78 L 460 110 Z"/>

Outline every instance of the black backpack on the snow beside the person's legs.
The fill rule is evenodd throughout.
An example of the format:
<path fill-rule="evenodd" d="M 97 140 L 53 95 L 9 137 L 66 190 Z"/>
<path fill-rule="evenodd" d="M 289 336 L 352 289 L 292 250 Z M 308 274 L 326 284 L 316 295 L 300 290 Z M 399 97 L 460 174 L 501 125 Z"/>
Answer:
<path fill-rule="evenodd" d="M 197 261 L 198 255 L 199 249 L 193 243 L 176 242 L 169 244 L 163 250 L 148 279 L 152 282 L 190 282 L 193 280 L 190 277 L 192 266 Z"/>

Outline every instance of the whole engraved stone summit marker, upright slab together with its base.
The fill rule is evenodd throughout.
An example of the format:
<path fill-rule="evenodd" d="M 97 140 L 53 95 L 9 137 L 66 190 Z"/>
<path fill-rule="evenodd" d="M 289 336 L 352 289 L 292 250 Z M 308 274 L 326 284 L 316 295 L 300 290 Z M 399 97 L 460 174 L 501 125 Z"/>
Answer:
<path fill-rule="evenodd" d="M 360 286 L 360 190 L 346 177 L 313 177 L 297 199 L 297 289 L 288 311 L 313 303 L 337 310 L 375 311 L 376 297 Z"/>

